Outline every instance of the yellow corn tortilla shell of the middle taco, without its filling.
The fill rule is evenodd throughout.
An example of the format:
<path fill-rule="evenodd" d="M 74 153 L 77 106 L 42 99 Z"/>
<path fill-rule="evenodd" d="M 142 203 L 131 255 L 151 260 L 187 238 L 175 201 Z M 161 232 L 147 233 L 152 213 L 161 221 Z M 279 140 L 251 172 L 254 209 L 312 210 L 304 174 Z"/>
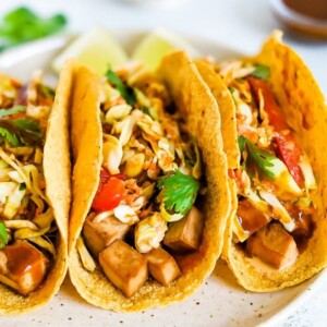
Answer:
<path fill-rule="evenodd" d="M 204 161 L 207 162 L 206 222 L 199 250 L 179 262 L 182 276 L 168 287 L 148 280 L 130 299 L 107 279 L 99 267 L 94 272 L 86 270 L 76 251 L 76 239 L 98 186 L 102 142 L 98 81 L 86 69 L 81 69 L 76 78 L 72 116 L 75 166 L 69 270 L 73 284 L 87 302 L 118 312 L 162 306 L 192 294 L 211 272 L 221 253 L 222 235 L 230 209 L 222 140 L 219 132 L 214 135 L 211 133 L 220 125 L 217 102 L 184 52 L 175 52 L 165 58 L 158 73 L 167 83 L 178 108 L 187 114 L 189 131 L 198 140 Z"/>

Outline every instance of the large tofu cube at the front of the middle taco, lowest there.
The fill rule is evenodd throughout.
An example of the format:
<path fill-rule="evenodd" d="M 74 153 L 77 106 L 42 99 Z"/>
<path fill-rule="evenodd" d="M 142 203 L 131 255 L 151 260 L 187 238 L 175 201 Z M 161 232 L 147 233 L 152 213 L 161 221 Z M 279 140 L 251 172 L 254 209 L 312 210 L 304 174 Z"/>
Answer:
<path fill-rule="evenodd" d="M 147 259 L 122 240 L 116 240 L 99 254 L 99 263 L 109 280 L 131 298 L 148 278 Z"/>

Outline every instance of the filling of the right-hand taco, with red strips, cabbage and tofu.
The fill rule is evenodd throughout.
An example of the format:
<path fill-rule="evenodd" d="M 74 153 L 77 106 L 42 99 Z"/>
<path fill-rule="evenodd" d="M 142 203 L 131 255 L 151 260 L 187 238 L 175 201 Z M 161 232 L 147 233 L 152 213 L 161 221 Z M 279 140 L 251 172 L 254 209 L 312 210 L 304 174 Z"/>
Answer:
<path fill-rule="evenodd" d="M 267 81 L 269 66 L 228 61 L 215 66 L 237 109 L 239 169 L 233 241 L 275 269 L 292 266 L 311 235 L 316 187 L 311 164 Z"/>

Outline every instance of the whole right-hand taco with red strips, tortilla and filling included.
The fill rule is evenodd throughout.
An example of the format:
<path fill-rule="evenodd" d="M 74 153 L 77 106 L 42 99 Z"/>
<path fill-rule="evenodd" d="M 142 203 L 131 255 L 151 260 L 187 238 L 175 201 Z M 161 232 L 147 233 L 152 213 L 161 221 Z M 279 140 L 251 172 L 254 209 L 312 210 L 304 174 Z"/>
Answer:
<path fill-rule="evenodd" d="M 221 110 L 229 156 L 232 210 L 223 256 L 247 290 L 298 284 L 327 258 L 324 96 L 280 32 L 253 58 L 202 60 L 197 69 Z"/>

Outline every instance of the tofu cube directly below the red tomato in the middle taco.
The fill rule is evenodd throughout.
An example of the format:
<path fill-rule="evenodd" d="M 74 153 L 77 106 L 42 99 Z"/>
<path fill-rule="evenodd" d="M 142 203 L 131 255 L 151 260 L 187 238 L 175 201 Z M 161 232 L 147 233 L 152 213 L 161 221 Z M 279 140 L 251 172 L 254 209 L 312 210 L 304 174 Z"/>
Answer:
<path fill-rule="evenodd" d="M 114 240 L 123 239 L 131 226 L 116 217 L 106 217 L 97 221 L 97 216 L 88 216 L 84 222 L 83 235 L 87 247 L 95 256 L 109 246 Z"/>

